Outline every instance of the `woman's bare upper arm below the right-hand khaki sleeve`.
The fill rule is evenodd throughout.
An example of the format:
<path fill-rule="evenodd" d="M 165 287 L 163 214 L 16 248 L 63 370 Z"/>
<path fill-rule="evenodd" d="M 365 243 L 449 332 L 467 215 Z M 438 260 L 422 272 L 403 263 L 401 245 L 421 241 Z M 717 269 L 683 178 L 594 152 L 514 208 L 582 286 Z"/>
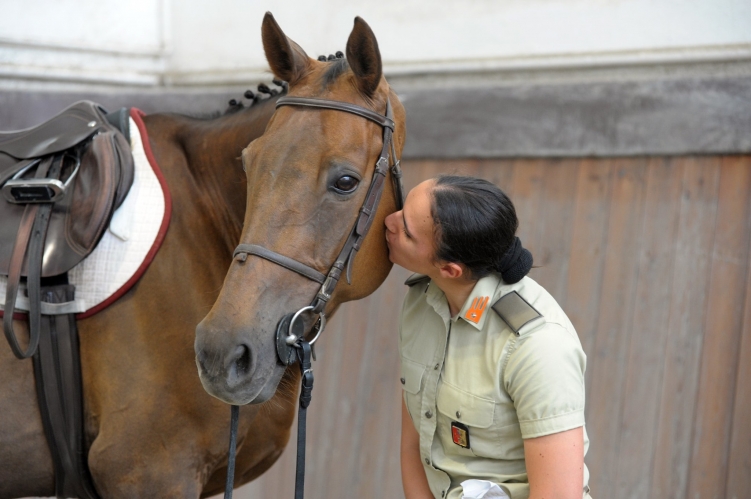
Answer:
<path fill-rule="evenodd" d="M 524 460 L 529 499 L 581 499 L 584 485 L 582 427 L 524 440 Z"/>

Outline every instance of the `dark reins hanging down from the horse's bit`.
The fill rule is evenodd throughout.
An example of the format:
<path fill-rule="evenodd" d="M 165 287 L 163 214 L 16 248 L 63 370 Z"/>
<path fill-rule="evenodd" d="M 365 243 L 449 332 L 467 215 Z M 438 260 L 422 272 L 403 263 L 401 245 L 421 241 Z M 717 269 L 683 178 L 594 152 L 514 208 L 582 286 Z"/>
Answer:
<path fill-rule="evenodd" d="M 305 494 L 305 428 L 308 406 L 313 399 L 313 369 L 310 362 L 310 343 L 300 340 L 297 358 L 300 361 L 302 381 L 300 386 L 300 408 L 297 411 L 297 470 L 295 471 L 295 499 L 303 499 Z M 229 460 L 227 461 L 227 482 L 224 485 L 224 499 L 232 499 L 235 485 L 235 455 L 237 450 L 237 420 L 240 407 L 230 409 Z"/>

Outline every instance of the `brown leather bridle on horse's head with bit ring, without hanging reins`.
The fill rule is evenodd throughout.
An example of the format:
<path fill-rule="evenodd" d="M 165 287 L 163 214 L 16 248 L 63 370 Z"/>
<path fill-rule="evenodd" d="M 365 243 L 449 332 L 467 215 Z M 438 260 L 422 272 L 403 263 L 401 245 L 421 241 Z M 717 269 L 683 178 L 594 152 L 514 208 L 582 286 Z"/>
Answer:
<path fill-rule="evenodd" d="M 402 170 L 399 166 L 399 160 L 396 158 L 396 147 L 394 146 L 393 140 L 395 125 L 390 99 L 386 101 L 385 116 L 356 104 L 326 99 L 315 99 L 311 97 L 280 97 L 279 100 L 276 101 L 276 107 L 278 109 L 281 106 L 303 106 L 343 111 L 366 118 L 379 124 L 383 128 L 383 147 L 381 148 L 381 154 L 378 157 L 378 161 L 376 161 L 373 180 L 370 183 L 368 193 L 365 196 L 365 201 L 360 208 L 360 214 L 349 233 L 349 237 L 339 252 L 339 256 L 334 260 L 328 274 L 324 275 L 304 263 L 256 244 L 240 244 L 235 249 L 233 257 L 239 261 L 244 262 L 248 255 L 255 255 L 274 262 L 277 265 L 296 272 L 321 285 L 310 305 L 303 307 L 295 314 L 286 315 L 279 323 L 279 331 L 277 333 L 277 353 L 283 364 L 290 365 L 295 361 L 292 347 L 297 346 L 298 340 L 303 336 L 302 326 L 298 328 L 295 327 L 296 319 L 303 312 L 307 311 L 310 311 L 313 314 L 318 314 L 318 321 L 313 328 L 315 336 L 309 342 L 310 344 L 313 344 L 321 334 L 321 331 L 323 331 L 326 324 L 326 316 L 324 313 L 326 304 L 334 293 L 339 278 L 341 277 L 342 272 L 345 272 L 345 269 L 347 283 L 352 283 L 352 264 L 357 255 L 357 251 L 360 249 L 362 242 L 373 223 L 375 213 L 378 211 L 381 194 L 383 194 L 383 189 L 386 183 L 386 175 L 389 170 L 391 171 L 391 178 L 394 184 L 397 210 L 402 209 L 404 204 L 404 187 L 402 184 Z M 389 153 L 391 153 L 391 160 L 393 162 L 391 165 L 389 165 Z M 298 331 L 298 333 L 295 334 L 294 331 Z M 287 334 L 285 335 L 284 333 Z"/>

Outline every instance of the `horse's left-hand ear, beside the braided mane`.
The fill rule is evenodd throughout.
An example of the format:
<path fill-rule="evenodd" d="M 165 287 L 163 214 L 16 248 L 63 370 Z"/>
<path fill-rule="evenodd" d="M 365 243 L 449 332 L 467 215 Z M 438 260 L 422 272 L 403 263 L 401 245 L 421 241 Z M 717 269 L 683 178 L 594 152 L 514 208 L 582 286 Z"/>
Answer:
<path fill-rule="evenodd" d="M 310 65 L 308 54 L 287 38 L 271 12 L 263 16 L 261 37 L 266 60 L 275 76 L 292 85 L 307 72 Z"/>

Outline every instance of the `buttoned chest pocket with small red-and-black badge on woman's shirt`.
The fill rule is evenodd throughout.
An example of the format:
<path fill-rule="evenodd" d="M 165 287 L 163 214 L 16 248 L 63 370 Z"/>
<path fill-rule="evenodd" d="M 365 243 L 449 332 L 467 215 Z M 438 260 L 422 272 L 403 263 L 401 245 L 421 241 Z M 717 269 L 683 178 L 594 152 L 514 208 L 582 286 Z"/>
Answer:
<path fill-rule="evenodd" d="M 447 452 L 490 459 L 524 457 L 524 443 L 513 403 L 481 397 L 444 382 L 436 406 L 441 443 Z M 467 427 L 469 449 L 454 443 L 451 433 L 454 421 Z"/>

